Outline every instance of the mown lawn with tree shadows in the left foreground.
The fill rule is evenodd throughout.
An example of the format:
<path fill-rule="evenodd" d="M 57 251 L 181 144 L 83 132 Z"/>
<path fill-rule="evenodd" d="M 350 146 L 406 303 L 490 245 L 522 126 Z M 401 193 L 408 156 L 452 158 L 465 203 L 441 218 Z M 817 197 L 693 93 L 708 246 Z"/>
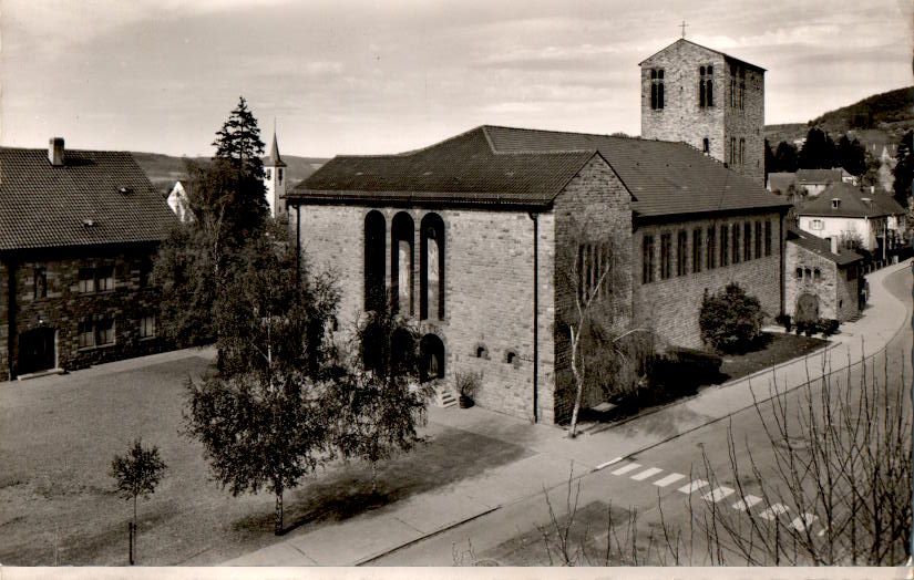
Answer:
<path fill-rule="evenodd" d="M 138 563 L 206 566 L 276 541 L 274 498 L 232 497 L 209 479 L 203 448 L 179 434 L 183 383 L 199 356 L 120 373 L 95 370 L 0 383 L 0 562 L 4 566 L 123 566 L 131 505 L 113 491 L 115 454 L 142 436 L 167 464 L 138 506 Z M 525 449 L 430 424 L 430 443 L 379 470 L 331 464 L 286 494 L 287 537 L 443 487 Z"/>

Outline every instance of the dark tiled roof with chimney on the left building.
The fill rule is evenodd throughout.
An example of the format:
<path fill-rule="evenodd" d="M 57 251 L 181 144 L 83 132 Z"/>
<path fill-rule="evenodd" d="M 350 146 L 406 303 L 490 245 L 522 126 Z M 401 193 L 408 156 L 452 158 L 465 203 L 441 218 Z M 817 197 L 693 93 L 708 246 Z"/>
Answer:
<path fill-rule="evenodd" d="M 0 147 L 0 250 L 160 241 L 176 222 L 129 153 Z"/>

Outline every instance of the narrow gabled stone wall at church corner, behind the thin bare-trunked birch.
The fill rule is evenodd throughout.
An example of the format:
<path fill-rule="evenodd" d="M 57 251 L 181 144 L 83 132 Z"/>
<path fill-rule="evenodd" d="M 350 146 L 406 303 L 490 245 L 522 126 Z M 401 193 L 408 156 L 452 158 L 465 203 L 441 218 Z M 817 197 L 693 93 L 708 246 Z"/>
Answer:
<path fill-rule="evenodd" d="M 582 245 L 604 246 L 614 259 L 607 275 L 609 296 L 600 294 L 590 313 L 622 332 L 631 321 L 631 196 L 615 172 L 594 157 L 555 199 L 555 416 L 571 417 L 574 381 L 571 374 L 568 323 L 579 323 L 575 308 L 575 265 Z M 596 401 L 594 401 L 596 402 Z"/>

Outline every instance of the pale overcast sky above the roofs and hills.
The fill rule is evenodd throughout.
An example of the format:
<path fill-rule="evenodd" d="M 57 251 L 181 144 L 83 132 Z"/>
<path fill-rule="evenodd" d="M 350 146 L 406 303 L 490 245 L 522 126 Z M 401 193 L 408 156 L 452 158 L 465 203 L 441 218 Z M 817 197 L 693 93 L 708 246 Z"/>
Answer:
<path fill-rule="evenodd" d="M 912 84 L 911 0 L 2 0 L 3 145 L 210 155 L 244 95 L 284 154 L 481 124 L 640 132 L 638 62 L 681 34 L 768 70 L 766 122 Z"/>

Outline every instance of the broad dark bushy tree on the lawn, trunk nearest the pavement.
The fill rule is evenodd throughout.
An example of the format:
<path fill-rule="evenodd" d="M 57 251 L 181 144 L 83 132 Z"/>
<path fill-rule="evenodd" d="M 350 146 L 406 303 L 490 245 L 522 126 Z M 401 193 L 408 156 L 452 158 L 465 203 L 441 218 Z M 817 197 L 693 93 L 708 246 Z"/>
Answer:
<path fill-rule="evenodd" d="M 283 497 L 330 455 L 328 385 L 298 371 L 250 371 L 187 382 L 185 433 L 233 496 L 266 488 L 275 497 L 274 534 L 284 529 Z"/>

